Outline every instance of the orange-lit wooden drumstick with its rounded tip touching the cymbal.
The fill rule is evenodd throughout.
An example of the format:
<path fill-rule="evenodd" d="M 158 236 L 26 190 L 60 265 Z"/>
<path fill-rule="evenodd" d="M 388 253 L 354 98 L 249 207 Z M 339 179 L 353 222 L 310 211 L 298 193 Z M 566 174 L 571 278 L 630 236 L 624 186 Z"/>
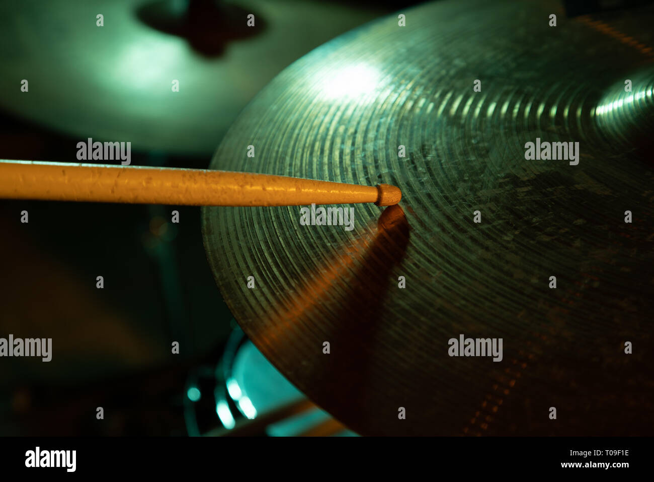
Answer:
<path fill-rule="evenodd" d="M 398 187 L 203 169 L 0 160 L 0 198 L 188 206 L 398 204 Z"/>

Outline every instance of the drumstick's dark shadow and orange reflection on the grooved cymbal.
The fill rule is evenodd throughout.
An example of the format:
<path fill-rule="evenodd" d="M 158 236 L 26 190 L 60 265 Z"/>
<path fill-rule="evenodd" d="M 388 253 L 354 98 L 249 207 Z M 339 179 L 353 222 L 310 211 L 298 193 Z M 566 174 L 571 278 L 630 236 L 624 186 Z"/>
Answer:
<path fill-rule="evenodd" d="M 307 356 L 301 367 L 281 369 L 309 398 L 328 400 L 329 406 L 323 408 L 337 419 L 389 415 L 390 408 L 373 399 L 383 390 L 385 375 L 381 367 L 371 363 L 375 359 L 371 355 L 378 348 L 377 333 L 392 329 L 388 326 L 392 320 L 382 314 L 394 283 L 391 274 L 409 245 L 409 231 L 402 208 L 389 206 L 379 217 L 372 238 L 354 240 L 343 248 L 345 254 L 307 276 L 311 281 L 305 290 L 314 293 L 311 301 L 306 297 L 286 299 L 283 310 L 272 310 L 277 319 L 266 324 L 274 326 L 276 333 L 281 328 L 288 337 L 298 336 L 298 327 L 318 327 L 320 331 L 301 332 L 303 344 L 320 347 L 330 343 L 329 354 L 317 348 L 314 353 L 318 356 Z M 262 335 L 275 338 L 273 333 Z M 356 431 L 355 426 L 350 428 Z"/>

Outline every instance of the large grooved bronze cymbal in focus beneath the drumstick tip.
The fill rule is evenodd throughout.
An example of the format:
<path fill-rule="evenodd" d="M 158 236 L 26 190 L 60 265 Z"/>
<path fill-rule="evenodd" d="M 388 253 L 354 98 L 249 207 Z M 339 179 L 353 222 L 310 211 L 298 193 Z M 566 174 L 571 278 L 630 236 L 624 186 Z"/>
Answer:
<path fill-rule="evenodd" d="M 216 151 L 214 169 L 403 194 L 353 206 L 352 231 L 298 208 L 203 208 L 236 320 L 360 434 L 647 434 L 651 7 L 613 13 L 621 29 L 556 1 L 402 13 L 290 65 Z M 572 142 L 570 158 L 526 158 L 537 139 Z M 502 339 L 502 360 L 450 356 L 460 335 Z"/>

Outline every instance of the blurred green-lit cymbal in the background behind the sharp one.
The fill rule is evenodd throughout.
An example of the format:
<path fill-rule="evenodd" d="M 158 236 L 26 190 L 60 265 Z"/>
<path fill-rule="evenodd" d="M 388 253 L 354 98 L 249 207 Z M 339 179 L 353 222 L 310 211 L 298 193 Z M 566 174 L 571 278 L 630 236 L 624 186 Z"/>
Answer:
<path fill-rule="evenodd" d="M 286 65 L 381 10 L 237 0 L 215 13 L 212 31 L 211 18 L 201 23 L 201 14 L 188 22 L 173 18 L 170 10 L 180 5 L 1 3 L 0 106 L 80 140 L 209 155 L 252 96 Z M 246 12 L 255 15 L 252 28 Z M 102 27 L 97 14 L 103 14 Z M 206 31 L 197 38 L 182 36 L 201 28 Z M 209 54 L 198 46 L 212 42 L 220 45 L 209 45 Z M 27 92 L 21 91 L 24 79 Z"/>

